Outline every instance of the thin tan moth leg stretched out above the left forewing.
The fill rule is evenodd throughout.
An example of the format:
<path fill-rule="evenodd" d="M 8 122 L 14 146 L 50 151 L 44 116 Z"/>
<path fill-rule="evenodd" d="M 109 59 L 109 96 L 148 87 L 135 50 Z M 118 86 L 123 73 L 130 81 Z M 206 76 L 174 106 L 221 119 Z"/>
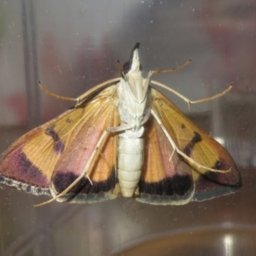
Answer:
<path fill-rule="evenodd" d="M 79 105 L 81 105 L 86 100 L 87 96 L 89 96 L 91 93 L 93 93 L 94 91 L 97 91 L 97 90 L 102 90 L 103 88 L 107 87 L 108 84 L 113 84 L 113 83 L 119 82 L 119 80 L 120 80 L 120 78 L 109 79 L 108 81 L 105 81 L 102 84 L 98 84 L 98 85 L 94 86 L 93 88 L 91 88 L 90 90 L 87 90 L 84 94 L 82 94 L 81 96 L 78 96 L 77 98 L 59 96 L 49 90 L 46 90 L 44 88 L 44 86 L 40 83 L 40 81 L 38 81 L 38 85 L 39 85 L 40 89 L 43 90 L 49 96 L 53 96 L 53 97 L 63 100 L 63 101 L 77 102 L 75 107 L 79 107 Z"/>

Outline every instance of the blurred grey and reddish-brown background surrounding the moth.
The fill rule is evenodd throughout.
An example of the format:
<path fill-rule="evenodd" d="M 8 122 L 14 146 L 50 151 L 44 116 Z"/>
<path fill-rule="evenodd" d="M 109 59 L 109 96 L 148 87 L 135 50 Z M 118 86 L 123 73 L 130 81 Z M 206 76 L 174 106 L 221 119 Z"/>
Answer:
<path fill-rule="evenodd" d="M 234 195 L 175 207 L 120 198 L 98 204 L 51 203 L 1 185 L 2 255 L 255 255 L 256 1 L 0 1 L 0 149 L 119 76 L 141 43 L 143 75 L 193 59 L 153 79 L 178 108 L 228 149 L 243 177 Z M 254 114 L 253 114 L 254 113 Z M 189 253 L 189 254 L 188 254 Z"/>

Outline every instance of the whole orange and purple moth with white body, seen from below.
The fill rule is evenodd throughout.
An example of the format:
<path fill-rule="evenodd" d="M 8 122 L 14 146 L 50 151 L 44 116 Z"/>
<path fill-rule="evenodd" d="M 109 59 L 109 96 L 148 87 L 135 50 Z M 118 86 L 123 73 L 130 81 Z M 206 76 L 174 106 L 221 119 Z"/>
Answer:
<path fill-rule="evenodd" d="M 143 78 L 138 49 L 137 43 L 119 78 L 72 99 L 73 108 L 13 143 L 1 156 L 0 183 L 52 197 L 44 203 L 123 195 L 182 205 L 239 189 L 241 175 L 230 154 L 150 86 L 171 90 L 151 76 L 189 61 Z"/>

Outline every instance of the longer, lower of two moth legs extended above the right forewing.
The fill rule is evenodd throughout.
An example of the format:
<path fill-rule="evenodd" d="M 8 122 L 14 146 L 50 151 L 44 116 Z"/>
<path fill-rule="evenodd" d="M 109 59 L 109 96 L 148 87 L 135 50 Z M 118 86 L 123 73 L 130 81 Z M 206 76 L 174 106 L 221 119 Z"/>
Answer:
<path fill-rule="evenodd" d="M 197 101 L 190 101 L 189 98 L 183 96 L 182 94 L 178 93 L 176 90 L 173 90 L 172 88 L 166 86 L 166 84 L 161 84 L 160 82 L 157 82 L 157 81 L 154 81 L 154 80 L 151 80 L 151 83 L 152 84 L 155 84 L 155 85 L 158 85 L 166 90 L 169 90 L 171 91 L 173 94 L 177 95 L 178 97 L 180 97 L 181 99 L 183 99 L 184 102 L 187 102 L 189 104 L 189 107 L 190 107 L 190 104 L 197 104 L 197 103 L 202 103 L 202 102 L 210 102 L 214 99 L 217 99 L 221 96 L 224 96 L 224 94 L 226 94 L 227 92 L 229 92 L 232 87 L 233 87 L 233 83 L 230 84 L 229 88 L 224 90 L 223 92 L 220 92 L 218 93 L 217 95 L 215 96 L 211 96 L 211 97 L 208 97 L 208 98 L 205 98 L 205 99 L 201 99 L 201 100 L 197 100 Z"/>

